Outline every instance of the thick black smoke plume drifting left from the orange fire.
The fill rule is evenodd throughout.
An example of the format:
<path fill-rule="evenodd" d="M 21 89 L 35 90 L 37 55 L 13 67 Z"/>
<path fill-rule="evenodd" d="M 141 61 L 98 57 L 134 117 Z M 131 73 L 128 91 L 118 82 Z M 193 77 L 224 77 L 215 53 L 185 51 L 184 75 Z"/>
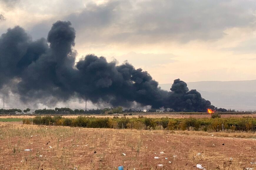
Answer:
<path fill-rule="evenodd" d="M 199 92 L 189 91 L 185 82 L 177 79 L 171 91 L 161 90 L 149 73 L 129 63 L 108 63 L 91 54 L 75 64 L 74 40 L 75 30 L 69 21 L 54 23 L 47 40 L 32 41 L 19 26 L 8 29 L 0 38 L 0 89 L 8 85 L 25 103 L 56 103 L 77 95 L 112 106 L 129 107 L 136 101 L 176 111 L 214 108 Z"/>

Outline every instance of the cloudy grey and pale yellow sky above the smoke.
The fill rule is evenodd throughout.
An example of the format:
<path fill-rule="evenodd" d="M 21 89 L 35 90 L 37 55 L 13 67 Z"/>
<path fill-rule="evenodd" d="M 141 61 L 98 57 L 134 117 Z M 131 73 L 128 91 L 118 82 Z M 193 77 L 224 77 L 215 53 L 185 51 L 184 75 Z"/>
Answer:
<path fill-rule="evenodd" d="M 160 84 L 256 79 L 254 0 L 0 0 L 0 33 L 46 38 L 57 20 L 75 28 L 77 60 L 128 60 Z"/>

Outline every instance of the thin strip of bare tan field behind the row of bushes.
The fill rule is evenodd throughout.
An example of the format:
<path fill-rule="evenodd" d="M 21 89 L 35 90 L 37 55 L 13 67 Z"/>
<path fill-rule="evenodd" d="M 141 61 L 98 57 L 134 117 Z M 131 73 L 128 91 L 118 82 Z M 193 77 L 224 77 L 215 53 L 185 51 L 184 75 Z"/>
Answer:
<path fill-rule="evenodd" d="M 140 114 L 141 115 L 141 114 Z M 40 116 L 40 115 L 39 115 Z M 63 115 L 62 117 L 66 118 L 76 118 L 80 115 Z M 82 115 L 82 116 L 94 116 L 94 117 L 114 117 L 114 116 L 123 116 L 122 114 L 120 115 Z M 195 117 L 195 118 L 203 118 L 203 117 L 211 117 L 210 114 L 203 114 L 203 115 L 185 115 L 185 114 L 154 114 L 154 115 L 143 115 L 144 117 L 149 117 L 149 118 L 162 118 L 162 117 L 169 117 L 169 118 L 189 118 L 189 117 Z M 236 115 L 236 114 L 222 114 L 221 117 L 243 117 L 243 116 L 249 116 L 249 117 L 256 117 L 256 114 L 246 114 L 246 115 Z M 34 118 L 35 115 L 0 115 L 0 118 Z M 132 118 L 132 117 L 139 117 L 139 115 L 132 115 L 129 116 L 127 115 L 126 117 Z"/>

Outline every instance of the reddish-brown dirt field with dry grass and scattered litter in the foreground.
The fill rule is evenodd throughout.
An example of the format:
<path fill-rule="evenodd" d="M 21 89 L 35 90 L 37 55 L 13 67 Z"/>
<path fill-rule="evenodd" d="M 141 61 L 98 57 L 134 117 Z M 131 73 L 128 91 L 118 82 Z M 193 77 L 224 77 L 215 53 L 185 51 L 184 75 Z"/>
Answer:
<path fill-rule="evenodd" d="M 125 170 L 198 169 L 196 164 L 208 170 L 256 167 L 250 163 L 256 162 L 255 139 L 215 137 L 217 134 L 1 122 L 0 169 L 112 170 L 120 165 Z"/>

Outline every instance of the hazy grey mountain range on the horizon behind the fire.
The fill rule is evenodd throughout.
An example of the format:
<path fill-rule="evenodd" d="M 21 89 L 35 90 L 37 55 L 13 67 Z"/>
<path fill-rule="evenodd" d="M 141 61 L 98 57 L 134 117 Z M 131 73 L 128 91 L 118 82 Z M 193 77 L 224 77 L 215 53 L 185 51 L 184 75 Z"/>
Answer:
<path fill-rule="evenodd" d="M 172 84 L 160 84 L 170 90 Z M 187 83 L 189 90 L 196 89 L 212 105 L 226 109 L 256 110 L 256 80 L 200 81 Z"/>

